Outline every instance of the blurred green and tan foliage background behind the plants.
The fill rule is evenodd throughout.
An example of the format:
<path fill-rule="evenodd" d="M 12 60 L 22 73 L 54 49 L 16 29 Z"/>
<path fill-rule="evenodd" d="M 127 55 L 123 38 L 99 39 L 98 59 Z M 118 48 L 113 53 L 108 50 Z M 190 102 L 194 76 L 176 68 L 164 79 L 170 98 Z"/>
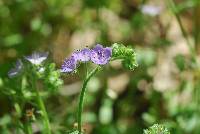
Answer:
<path fill-rule="evenodd" d="M 139 66 L 130 72 L 112 62 L 90 81 L 86 133 L 140 134 L 161 123 L 172 134 L 199 134 L 199 31 L 199 0 L 0 0 L 0 133 L 15 133 L 5 90 L 16 59 L 48 51 L 60 68 L 76 49 L 118 42 L 135 48 Z M 76 125 L 82 80 L 63 80 L 45 100 L 53 134 Z"/>

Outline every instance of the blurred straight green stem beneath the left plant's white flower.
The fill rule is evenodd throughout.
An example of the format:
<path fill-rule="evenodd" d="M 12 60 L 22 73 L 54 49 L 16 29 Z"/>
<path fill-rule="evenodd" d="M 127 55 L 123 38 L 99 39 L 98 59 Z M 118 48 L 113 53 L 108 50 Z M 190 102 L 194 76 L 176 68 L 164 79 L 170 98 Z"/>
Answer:
<path fill-rule="evenodd" d="M 43 134 L 51 134 L 51 127 L 50 127 L 48 114 L 47 114 L 44 102 L 42 100 L 42 97 L 40 95 L 40 92 L 37 89 L 37 83 L 36 83 L 35 78 L 34 78 L 33 82 L 34 82 L 33 86 L 34 86 L 34 89 L 36 91 L 36 99 L 37 99 L 37 102 L 38 102 L 38 106 L 39 106 L 40 110 L 42 111 L 42 117 L 43 117 L 42 121 L 43 121 L 43 124 L 44 124 Z"/>

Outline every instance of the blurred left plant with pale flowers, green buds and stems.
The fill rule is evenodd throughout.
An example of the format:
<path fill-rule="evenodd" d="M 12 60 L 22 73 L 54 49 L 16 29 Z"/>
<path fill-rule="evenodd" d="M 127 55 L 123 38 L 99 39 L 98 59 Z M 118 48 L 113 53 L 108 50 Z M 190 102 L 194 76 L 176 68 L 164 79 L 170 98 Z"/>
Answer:
<path fill-rule="evenodd" d="M 15 89 L 16 91 L 8 90 L 8 93 L 15 99 L 14 107 L 18 115 L 18 124 L 21 124 L 20 128 L 25 134 L 33 133 L 32 121 L 37 119 L 34 115 L 35 108 L 38 109 L 37 113 L 40 113 L 43 122 L 41 132 L 51 134 L 49 117 L 40 87 L 45 89 L 43 91 L 52 93 L 62 85 L 63 81 L 60 79 L 60 70 L 56 70 L 55 64 L 49 63 L 47 58 L 47 52 L 34 52 L 18 60 L 15 67 L 8 72 L 9 78 L 20 85 Z M 26 109 L 26 104 L 31 104 L 35 108 Z M 26 111 L 26 114 L 23 114 L 23 111 Z M 21 121 L 21 118 L 25 118 L 25 121 Z"/>

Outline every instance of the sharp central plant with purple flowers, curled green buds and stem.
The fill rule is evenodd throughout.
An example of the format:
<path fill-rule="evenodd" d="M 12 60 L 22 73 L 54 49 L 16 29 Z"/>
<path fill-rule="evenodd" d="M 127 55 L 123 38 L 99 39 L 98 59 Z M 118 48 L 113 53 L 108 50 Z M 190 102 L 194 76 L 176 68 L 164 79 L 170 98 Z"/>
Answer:
<path fill-rule="evenodd" d="M 113 44 L 111 47 L 103 47 L 97 44 L 94 48 L 88 49 L 84 48 L 82 50 L 72 53 L 72 55 L 65 59 L 61 66 L 61 72 L 72 73 L 79 67 L 78 64 L 88 64 L 94 63 L 96 67 L 92 71 L 88 71 L 88 66 L 86 66 L 86 75 L 83 81 L 79 104 L 78 104 L 78 130 L 72 133 L 82 133 L 82 111 L 83 111 L 83 100 L 86 92 L 87 84 L 92 76 L 94 76 L 98 71 L 100 71 L 106 64 L 113 60 L 122 60 L 122 64 L 125 68 L 133 70 L 137 67 L 135 51 L 131 47 L 126 47 L 122 44 Z"/>

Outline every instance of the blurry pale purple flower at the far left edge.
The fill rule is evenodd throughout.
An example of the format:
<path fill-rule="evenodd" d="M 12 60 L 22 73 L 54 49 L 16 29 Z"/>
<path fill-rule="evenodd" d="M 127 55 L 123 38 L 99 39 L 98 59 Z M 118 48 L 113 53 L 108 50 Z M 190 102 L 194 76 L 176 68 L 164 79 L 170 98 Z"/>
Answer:
<path fill-rule="evenodd" d="M 13 78 L 17 76 L 21 72 L 22 68 L 23 68 L 22 61 L 17 60 L 15 67 L 8 72 L 8 77 Z"/>

